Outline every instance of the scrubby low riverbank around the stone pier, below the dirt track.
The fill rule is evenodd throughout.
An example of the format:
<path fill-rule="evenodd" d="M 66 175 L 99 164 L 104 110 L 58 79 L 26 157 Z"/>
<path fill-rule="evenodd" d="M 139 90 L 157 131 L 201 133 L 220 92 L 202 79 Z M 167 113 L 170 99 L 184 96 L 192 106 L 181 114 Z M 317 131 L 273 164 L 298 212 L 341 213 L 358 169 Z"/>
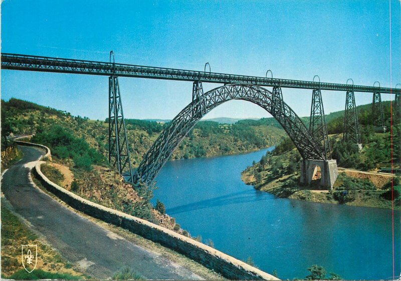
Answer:
<path fill-rule="evenodd" d="M 269 192 L 280 198 L 305 200 L 310 202 L 345 204 L 361 207 L 401 209 L 399 193 L 394 188 L 394 204 L 391 204 L 391 175 L 340 169 L 332 191 L 319 186 L 319 174 L 311 185 L 299 183 L 299 169 L 290 167 L 295 152 L 283 156 L 270 156 L 266 163 L 255 163 L 241 173 L 241 179 L 255 189 Z M 277 164 L 280 162 L 279 164 Z M 280 166 L 280 167 L 277 167 Z M 394 186 L 399 178 L 394 178 Z"/>

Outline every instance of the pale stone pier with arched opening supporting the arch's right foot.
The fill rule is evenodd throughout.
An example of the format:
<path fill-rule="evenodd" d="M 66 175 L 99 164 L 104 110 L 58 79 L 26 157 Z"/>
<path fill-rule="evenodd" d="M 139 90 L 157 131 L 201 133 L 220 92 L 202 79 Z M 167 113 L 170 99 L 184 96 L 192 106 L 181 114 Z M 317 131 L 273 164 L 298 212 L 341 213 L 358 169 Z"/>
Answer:
<path fill-rule="evenodd" d="M 335 180 L 338 176 L 336 160 L 313 160 L 307 159 L 301 162 L 301 183 L 310 184 L 313 176 L 320 167 L 321 178 L 320 185 L 332 190 Z"/>

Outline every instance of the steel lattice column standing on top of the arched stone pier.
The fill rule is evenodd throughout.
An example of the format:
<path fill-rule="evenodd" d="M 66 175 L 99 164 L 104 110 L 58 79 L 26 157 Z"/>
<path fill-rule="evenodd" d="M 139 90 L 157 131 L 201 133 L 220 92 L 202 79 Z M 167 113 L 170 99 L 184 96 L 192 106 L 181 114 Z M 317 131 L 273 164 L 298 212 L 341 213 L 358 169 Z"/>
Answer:
<path fill-rule="evenodd" d="M 312 106 L 310 109 L 309 132 L 320 145 L 325 156 L 324 160 L 331 159 L 329 136 L 327 134 L 326 118 L 324 117 L 322 93 L 320 89 L 313 90 Z"/>

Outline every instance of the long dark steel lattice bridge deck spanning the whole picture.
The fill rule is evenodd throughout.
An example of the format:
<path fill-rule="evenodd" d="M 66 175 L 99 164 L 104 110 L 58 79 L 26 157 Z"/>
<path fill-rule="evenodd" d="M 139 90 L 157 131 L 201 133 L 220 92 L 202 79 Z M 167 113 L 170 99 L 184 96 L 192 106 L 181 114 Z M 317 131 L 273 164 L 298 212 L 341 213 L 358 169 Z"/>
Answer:
<path fill-rule="evenodd" d="M 331 91 L 354 91 L 368 93 L 401 93 L 401 89 L 380 88 L 361 85 L 319 83 L 311 81 L 264 78 L 255 76 L 233 75 L 214 72 L 191 71 L 172 68 L 113 64 L 73 59 L 2 54 L 2 69 L 27 70 L 42 72 L 90 74 L 104 76 L 122 76 L 178 81 L 202 81 L 210 83 L 245 83 L 259 86 L 281 86 L 283 88 L 321 89 Z"/>

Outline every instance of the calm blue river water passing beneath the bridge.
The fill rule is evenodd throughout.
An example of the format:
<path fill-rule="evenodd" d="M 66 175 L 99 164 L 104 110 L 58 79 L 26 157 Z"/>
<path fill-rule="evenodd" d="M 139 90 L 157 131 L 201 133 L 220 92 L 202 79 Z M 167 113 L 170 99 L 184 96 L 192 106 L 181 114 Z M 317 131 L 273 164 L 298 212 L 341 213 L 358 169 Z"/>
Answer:
<path fill-rule="evenodd" d="M 280 199 L 241 181 L 266 150 L 176 160 L 157 176 L 154 198 L 192 236 L 278 277 L 303 278 L 319 264 L 345 279 L 392 277 L 391 210 Z M 395 275 L 400 273 L 400 212 L 394 211 Z"/>

